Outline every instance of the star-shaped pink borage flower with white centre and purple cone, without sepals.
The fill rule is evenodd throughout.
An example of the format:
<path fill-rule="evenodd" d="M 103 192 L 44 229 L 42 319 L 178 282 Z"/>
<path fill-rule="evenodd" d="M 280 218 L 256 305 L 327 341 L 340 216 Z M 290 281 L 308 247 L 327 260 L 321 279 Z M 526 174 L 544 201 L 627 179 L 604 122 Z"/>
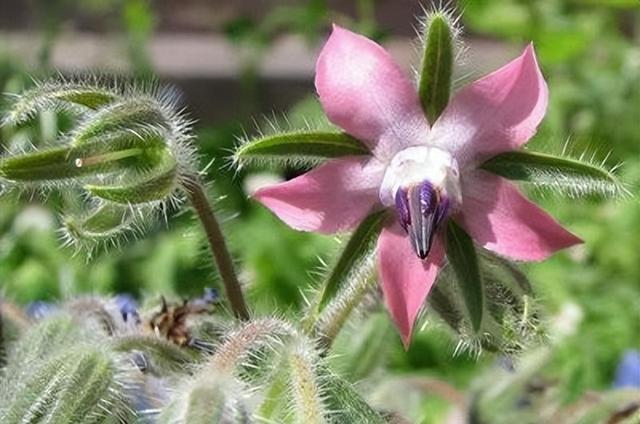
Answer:
<path fill-rule="evenodd" d="M 380 208 L 395 210 L 378 239 L 378 270 L 405 345 L 445 261 L 447 220 L 478 245 L 521 261 L 581 242 L 512 183 L 480 169 L 522 147 L 544 116 L 547 86 L 532 45 L 462 88 L 432 123 L 389 53 L 338 26 L 318 58 L 315 85 L 329 120 L 370 155 L 329 160 L 254 197 L 291 227 L 325 234 L 351 230 Z"/>

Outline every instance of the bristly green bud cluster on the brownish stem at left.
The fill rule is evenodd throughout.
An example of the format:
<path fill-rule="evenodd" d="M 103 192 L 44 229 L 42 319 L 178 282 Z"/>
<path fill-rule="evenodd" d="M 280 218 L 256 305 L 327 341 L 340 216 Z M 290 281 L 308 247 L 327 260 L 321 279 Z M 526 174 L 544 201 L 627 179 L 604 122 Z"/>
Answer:
<path fill-rule="evenodd" d="M 0 184 L 12 189 L 77 189 L 85 200 L 65 218 L 68 240 L 117 240 L 150 212 L 179 201 L 197 171 L 190 123 L 175 94 L 98 81 L 52 81 L 16 96 L 3 125 L 49 109 L 71 112 L 73 128 L 52 145 L 0 157 Z M 136 225 L 137 224 L 137 225 Z"/>

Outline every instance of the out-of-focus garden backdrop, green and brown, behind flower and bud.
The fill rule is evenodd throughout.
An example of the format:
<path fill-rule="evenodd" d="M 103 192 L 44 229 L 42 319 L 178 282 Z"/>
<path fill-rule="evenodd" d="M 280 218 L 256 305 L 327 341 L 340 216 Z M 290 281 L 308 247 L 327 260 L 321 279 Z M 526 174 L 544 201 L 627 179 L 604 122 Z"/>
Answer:
<path fill-rule="evenodd" d="M 450 3 L 464 11 L 468 47 L 456 86 L 506 63 L 532 40 L 551 93 L 532 148 L 608 157 L 612 166 L 622 163 L 621 175 L 637 193 L 640 1 Z M 313 72 L 331 22 L 380 41 L 410 72 L 418 58 L 416 17 L 429 6 L 427 0 L 0 0 L 0 91 L 19 92 L 34 78 L 57 73 L 157 78 L 176 86 L 196 120 L 202 165 L 213 161 L 211 194 L 226 217 L 249 297 L 258 310 L 286 314 L 300 307 L 319 258 L 330 257 L 336 241 L 295 232 L 247 199 L 251 187 L 304 170 L 235 172 L 227 166 L 230 149 L 267 119 L 292 127 L 322 119 Z M 66 126 L 64 116 L 43 113 L 26 127 L 2 128 L 0 152 L 47 143 Z M 640 349 L 640 204 L 530 195 L 585 240 L 525 267 L 547 316 L 569 327 L 542 375 L 559 401 L 570 403 L 611 387 L 621 358 Z M 87 261 L 61 248 L 56 206 L 56 196 L 0 198 L 0 295 L 11 302 L 92 293 L 179 298 L 218 284 L 189 213 Z M 395 333 L 386 332 L 390 369 L 465 390 L 494 363 L 491 355 L 454 356 L 446 331 L 430 324 L 406 353 Z M 388 326 L 386 318 L 380 325 Z M 640 365 L 629 373 L 640 378 Z M 422 422 L 440 422 L 443 397 L 421 400 Z"/>

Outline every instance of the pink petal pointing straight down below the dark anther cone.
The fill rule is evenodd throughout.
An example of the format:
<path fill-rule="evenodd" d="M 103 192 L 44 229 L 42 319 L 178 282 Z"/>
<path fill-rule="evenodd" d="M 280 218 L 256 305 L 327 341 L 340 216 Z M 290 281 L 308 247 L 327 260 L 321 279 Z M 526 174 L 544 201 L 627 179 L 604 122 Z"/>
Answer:
<path fill-rule="evenodd" d="M 382 292 L 405 348 L 409 346 L 413 324 L 435 282 L 443 258 L 440 236 L 433 241 L 427 259 L 420 260 L 397 223 L 383 229 L 380 234 L 378 269 Z"/>

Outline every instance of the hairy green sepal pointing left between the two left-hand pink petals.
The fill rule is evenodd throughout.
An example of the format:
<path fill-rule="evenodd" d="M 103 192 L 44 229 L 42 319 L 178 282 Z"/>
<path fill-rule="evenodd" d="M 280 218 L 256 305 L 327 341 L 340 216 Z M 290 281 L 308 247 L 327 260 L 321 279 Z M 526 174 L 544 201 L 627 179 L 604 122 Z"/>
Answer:
<path fill-rule="evenodd" d="M 345 133 L 301 131 L 258 138 L 241 145 L 234 154 L 236 162 L 256 160 L 321 160 L 350 155 L 368 155 L 369 150 Z"/>

